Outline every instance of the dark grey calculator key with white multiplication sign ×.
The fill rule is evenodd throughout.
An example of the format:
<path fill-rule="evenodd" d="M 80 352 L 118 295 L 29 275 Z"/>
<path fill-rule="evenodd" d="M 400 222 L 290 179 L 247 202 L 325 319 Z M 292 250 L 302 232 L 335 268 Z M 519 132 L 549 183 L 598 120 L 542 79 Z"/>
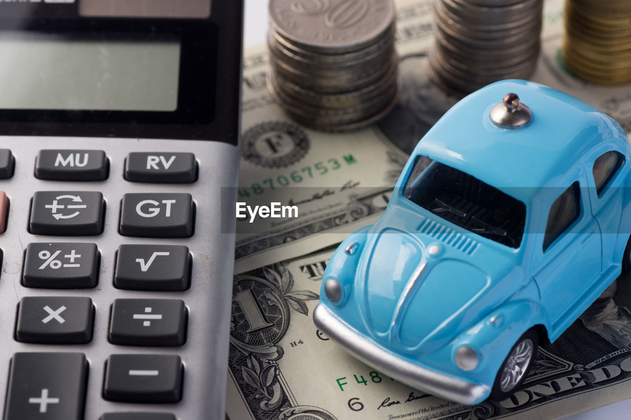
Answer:
<path fill-rule="evenodd" d="M 27 297 L 18 308 L 15 339 L 41 344 L 85 344 L 92 339 L 90 298 Z"/>

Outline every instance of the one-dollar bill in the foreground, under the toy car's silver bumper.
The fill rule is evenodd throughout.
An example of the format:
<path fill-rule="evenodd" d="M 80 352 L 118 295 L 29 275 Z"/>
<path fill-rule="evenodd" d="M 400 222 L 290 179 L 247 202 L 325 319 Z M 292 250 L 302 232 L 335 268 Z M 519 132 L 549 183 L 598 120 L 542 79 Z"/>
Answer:
<path fill-rule="evenodd" d="M 620 277 L 503 401 L 461 405 L 398 383 L 347 354 L 311 315 L 332 252 L 237 274 L 227 412 L 232 420 L 551 419 L 631 394 L 631 278 Z"/>

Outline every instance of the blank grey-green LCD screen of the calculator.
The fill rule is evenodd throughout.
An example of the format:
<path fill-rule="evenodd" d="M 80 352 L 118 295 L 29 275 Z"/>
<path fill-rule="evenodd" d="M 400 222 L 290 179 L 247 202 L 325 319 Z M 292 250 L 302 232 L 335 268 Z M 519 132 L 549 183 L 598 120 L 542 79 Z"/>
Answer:
<path fill-rule="evenodd" d="M 180 41 L 3 33 L 0 109 L 175 111 Z M 141 75 L 141 77 L 139 77 Z"/>

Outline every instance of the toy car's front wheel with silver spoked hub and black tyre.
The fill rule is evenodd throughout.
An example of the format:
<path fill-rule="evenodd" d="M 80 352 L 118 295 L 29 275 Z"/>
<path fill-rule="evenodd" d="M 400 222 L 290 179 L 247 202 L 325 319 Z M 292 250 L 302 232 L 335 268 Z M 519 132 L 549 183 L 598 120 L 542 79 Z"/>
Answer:
<path fill-rule="evenodd" d="M 513 394 L 524 379 L 533 364 L 537 353 L 539 339 L 536 331 L 530 329 L 524 333 L 509 351 L 495 376 L 495 383 L 491 396 L 497 400 L 504 400 Z"/>

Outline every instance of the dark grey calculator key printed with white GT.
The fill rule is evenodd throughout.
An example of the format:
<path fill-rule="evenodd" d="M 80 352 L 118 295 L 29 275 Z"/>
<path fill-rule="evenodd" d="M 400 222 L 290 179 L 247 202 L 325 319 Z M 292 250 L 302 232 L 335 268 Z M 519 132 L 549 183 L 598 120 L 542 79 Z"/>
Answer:
<path fill-rule="evenodd" d="M 124 236 L 189 238 L 193 234 L 191 194 L 125 194 L 119 230 Z"/>

